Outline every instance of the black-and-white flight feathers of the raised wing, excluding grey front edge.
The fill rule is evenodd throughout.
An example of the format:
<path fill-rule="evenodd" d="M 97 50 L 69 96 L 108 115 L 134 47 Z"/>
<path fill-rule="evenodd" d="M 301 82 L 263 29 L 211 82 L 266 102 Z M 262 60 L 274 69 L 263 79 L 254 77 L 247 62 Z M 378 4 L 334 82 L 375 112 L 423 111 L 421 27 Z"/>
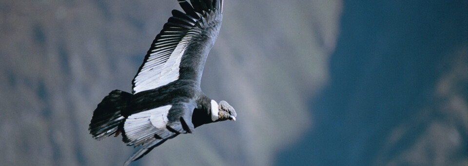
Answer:
<path fill-rule="evenodd" d="M 186 0 L 178 2 L 185 13 L 173 10 L 173 16 L 156 35 L 133 80 L 134 94 L 179 79 L 181 59 L 187 48 L 194 40 L 203 39 L 205 31 L 212 31 L 210 26 L 216 26 L 215 21 L 220 24 L 222 0 L 191 0 L 192 4 Z M 205 59 L 199 60 L 204 64 Z"/>

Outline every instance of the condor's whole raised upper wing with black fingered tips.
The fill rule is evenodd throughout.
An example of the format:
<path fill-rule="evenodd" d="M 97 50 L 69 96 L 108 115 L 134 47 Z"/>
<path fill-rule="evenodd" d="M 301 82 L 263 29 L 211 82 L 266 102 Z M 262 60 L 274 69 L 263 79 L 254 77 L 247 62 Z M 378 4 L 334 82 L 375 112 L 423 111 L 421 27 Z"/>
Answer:
<path fill-rule="evenodd" d="M 208 52 L 222 22 L 223 0 L 178 0 L 185 13 L 172 11 L 156 35 L 133 80 L 133 93 L 178 79 L 200 83 Z"/>

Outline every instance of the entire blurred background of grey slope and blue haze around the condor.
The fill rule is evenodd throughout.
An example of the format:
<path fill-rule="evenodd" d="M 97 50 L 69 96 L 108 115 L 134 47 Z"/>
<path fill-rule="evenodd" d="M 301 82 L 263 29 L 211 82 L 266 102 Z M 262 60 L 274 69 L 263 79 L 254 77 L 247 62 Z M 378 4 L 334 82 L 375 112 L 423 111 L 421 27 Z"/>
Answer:
<path fill-rule="evenodd" d="M 134 166 L 467 166 L 467 0 L 225 0 L 202 89 L 236 122 Z M 0 1 L 0 165 L 114 166 L 92 111 L 176 0 Z"/>

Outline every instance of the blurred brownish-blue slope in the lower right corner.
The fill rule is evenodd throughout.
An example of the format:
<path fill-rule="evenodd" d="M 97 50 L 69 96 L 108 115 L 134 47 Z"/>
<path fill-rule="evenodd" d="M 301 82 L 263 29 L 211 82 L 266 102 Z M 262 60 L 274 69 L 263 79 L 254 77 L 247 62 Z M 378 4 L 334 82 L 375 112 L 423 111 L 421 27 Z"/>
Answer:
<path fill-rule="evenodd" d="M 467 45 L 446 55 L 430 103 L 390 131 L 375 165 L 468 165 Z"/>

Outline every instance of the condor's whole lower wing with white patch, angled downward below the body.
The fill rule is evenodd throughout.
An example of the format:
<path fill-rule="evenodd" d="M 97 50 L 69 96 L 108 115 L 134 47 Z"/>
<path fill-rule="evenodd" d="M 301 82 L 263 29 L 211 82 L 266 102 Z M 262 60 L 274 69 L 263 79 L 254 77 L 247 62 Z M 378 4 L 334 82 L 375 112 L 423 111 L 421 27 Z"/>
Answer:
<path fill-rule="evenodd" d="M 128 116 L 123 124 L 127 146 L 141 146 L 126 162 L 128 165 L 153 148 L 180 133 L 193 133 L 192 113 L 195 103 L 175 103 Z"/>

